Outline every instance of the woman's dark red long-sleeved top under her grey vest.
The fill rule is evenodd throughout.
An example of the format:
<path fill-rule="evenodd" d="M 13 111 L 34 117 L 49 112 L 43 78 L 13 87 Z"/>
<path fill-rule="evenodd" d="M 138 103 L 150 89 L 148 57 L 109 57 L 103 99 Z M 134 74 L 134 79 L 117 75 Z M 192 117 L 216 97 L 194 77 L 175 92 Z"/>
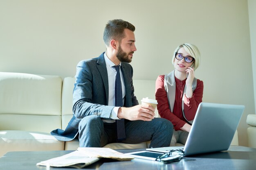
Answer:
<path fill-rule="evenodd" d="M 180 128 L 183 127 L 186 123 L 186 120 L 184 119 L 182 113 L 182 94 L 184 86 L 186 84 L 186 79 L 180 81 L 175 77 L 175 83 L 176 94 L 173 112 L 171 112 L 170 110 L 167 94 L 164 89 L 164 75 L 160 75 L 157 77 L 155 83 L 155 98 L 158 102 L 157 110 L 161 118 L 170 120 L 174 126 L 175 131 L 179 131 L 181 130 Z M 204 84 L 198 79 L 196 89 L 193 92 L 193 96 L 191 98 L 187 98 L 186 95 L 184 96 L 184 114 L 188 120 L 193 120 L 195 118 L 195 113 L 198 109 L 198 105 L 200 104 L 200 102 L 202 102 L 203 89 Z"/>

